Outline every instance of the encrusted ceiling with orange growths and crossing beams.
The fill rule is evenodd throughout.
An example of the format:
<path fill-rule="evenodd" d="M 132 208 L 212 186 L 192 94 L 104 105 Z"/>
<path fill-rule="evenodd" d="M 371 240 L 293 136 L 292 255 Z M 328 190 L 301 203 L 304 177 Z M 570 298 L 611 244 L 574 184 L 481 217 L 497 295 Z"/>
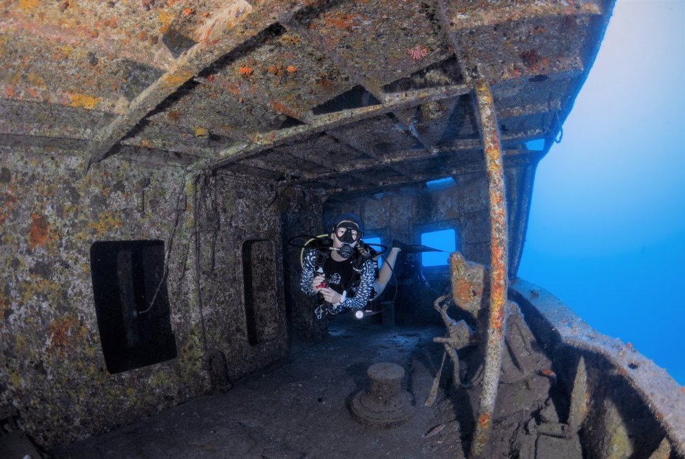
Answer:
<path fill-rule="evenodd" d="M 472 83 L 505 165 L 547 147 L 613 1 L 6 0 L 0 144 L 330 192 L 483 168 Z M 547 148 L 546 147 L 546 148 Z"/>

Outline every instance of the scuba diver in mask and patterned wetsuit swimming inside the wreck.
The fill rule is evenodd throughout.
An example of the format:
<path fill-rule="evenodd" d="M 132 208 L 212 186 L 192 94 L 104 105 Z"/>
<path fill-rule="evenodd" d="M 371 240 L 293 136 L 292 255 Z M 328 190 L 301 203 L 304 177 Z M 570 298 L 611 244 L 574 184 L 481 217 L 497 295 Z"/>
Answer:
<path fill-rule="evenodd" d="M 318 319 L 324 314 L 344 310 L 362 310 L 385 290 L 392 268 L 401 250 L 436 250 L 425 246 L 408 246 L 392 241 L 392 248 L 378 272 L 376 258 L 381 255 L 363 244 L 361 219 L 348 213 L 339 215 L 330 228 L 330 239 L 317 239 L 318 247 L 309 248 L 302 260 L 300 288 L 306 295 L 318 295 L 315 310 Z"/>

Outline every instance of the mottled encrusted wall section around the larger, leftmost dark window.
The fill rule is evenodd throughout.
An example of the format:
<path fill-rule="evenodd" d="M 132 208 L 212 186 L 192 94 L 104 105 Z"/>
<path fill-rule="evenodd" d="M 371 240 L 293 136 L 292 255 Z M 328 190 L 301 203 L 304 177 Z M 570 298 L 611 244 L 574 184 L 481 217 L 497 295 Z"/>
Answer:
<path fill-rule="evenodd" d="M 3 152 L 0 171 L 0 403 L 17 409 L 25 430 L 42 445 L 68 442 L 206 389 L 193 273 L 183 256 L 192 209 L 182 171 L 112 160 L 84 175 L 81 157 L 25 151 Z M 169 297 L 178 358 L 109 374 L 90 246 L 167 241 L 177 203 Z"/>

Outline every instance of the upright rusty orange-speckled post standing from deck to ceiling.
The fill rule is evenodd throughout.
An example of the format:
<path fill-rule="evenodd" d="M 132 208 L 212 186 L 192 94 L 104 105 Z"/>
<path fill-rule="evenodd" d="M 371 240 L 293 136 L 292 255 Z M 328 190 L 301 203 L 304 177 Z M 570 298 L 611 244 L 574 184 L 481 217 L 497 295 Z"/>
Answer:
<path fill-rule="evenodd" d="M 483 457 L 492 428 L 505 339 L 507 306 L 507 201 L 504 167 L 496 110 L 489 85 L 476 80 L 475 102 L 478 127 L 485 145 L 485 169 L 490 213 L 490 299 L 485 372 L 481 389 L 476 431 L 470 456 Z"/>

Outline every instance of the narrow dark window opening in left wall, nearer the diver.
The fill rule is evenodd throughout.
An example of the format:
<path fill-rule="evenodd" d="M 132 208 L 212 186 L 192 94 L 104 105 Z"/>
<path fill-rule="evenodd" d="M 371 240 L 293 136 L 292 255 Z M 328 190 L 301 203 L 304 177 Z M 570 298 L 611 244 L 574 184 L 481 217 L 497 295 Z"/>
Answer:
<path fill-rule="evenodd" d="M 269 341 L 277 332 L 275 264 L 270 240 L 253 239 L 242 244 L 245 319 L 251 345 Z"/>

